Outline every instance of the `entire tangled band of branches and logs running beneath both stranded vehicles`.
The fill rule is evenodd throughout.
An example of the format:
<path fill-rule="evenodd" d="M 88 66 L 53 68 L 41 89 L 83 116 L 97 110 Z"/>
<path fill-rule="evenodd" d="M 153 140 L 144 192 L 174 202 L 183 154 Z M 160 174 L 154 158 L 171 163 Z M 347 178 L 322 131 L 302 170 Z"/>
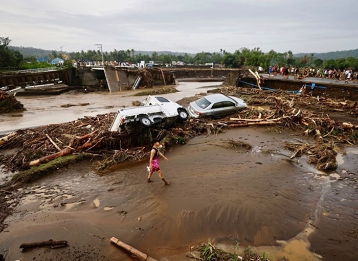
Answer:
<path fill-rule="evenodd" d="M 0 160 L 5 163 L 6 170 L 19 172 L 14 175 L 14 181 L 28 181 L 46 171 L 86 158 L 96 160 L 94 166 L 97 170 L 122 162 L 142 160 L 147 156 L 148 145 L 153 138 L 162 139 L 170 146 L 183 144 L 197 135 L 218 134 L 228 128 L 269 125 L 275 126 L 277 132 L 290 128 L 296 134 L 313 138 L 314 144 L 309 146 L 293 144 L 286 145 L 286 148 L 293 150 L 295 156 L 308 154 L 312 164 L 319 169 L 330 170 L 337 166 L 334 146 L 331 144 L 358 143 L 357 123 L 335 121 L 326 113 L 303 109 L 308 103 L 313 104 L 313 97 L 285 92 L 276 92 L 274 95 L 244 88 L 222 88 L 220 92 L 239 97 L 246 95 L 248 104 L 255 106 L 219 120 L 191 119 L 150 129 L 132 124 L 121 133 L 108 131 L 114 114 L 21 130 L 0 138 L 0 150 L 18 148 L 12 153 L 2 153 Z M 334 104 L 340 105 L 344 113 L 354 114 L 356 111 L 351 101 L 321 101 L 316 100 L 315 105 L 325 112 Z"/>

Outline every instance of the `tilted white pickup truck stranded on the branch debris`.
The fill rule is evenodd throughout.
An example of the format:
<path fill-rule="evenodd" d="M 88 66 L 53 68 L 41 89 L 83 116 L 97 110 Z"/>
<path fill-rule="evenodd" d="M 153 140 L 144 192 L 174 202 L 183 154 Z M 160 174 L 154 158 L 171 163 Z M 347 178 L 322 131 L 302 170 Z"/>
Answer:
<path fill-rule="evenodd" d="M 121 132 L 124 125 L 129 122 L 138 122 L 143 127 L 149 128 L 165 118 L 177 118 L 185 121 L 188 117 L 187 110 L 178 103 L 162 96 L 149 95 L 143 101 L 143 106 L 119 109 L 109 131 Z"/>

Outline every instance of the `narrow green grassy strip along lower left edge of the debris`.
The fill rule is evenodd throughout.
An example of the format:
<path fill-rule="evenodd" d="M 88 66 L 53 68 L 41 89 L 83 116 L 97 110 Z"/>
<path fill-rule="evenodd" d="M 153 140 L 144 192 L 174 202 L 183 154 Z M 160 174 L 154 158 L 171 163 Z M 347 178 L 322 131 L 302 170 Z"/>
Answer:
<path fill-rule="evenodd" d="M 15 175 L 12 176 L 11 180 L 20 181 L 20 182 L 34 181 L 40 177 L 46 176 L 47 174 L 49 174 L 49 172 L 56 170 L 60 167 L 74 164 L 76 162 L 92 157 L 93 155 L 88 153 L 63 156 L 53 161 L 50 161 L 48 163 L 44 163 L 39 166 L 34 166 L 28 170 L 16 173 Z"/>

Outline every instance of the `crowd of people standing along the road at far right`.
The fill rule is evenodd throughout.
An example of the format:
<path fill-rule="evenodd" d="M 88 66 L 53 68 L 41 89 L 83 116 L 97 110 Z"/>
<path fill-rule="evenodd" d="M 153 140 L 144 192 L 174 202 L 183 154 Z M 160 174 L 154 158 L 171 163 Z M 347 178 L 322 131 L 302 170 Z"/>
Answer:
<path fill-rule="evenodd" d="M 346 68 L 343 71 L 335 68 L 299 68 L 299 67 L 279 67 L 270 66 L 269 75 L 281 75 L 283 78 L 288 79 L 289 75 L 293 75 L 294 79 L 302 80 L 305 77 L 319 77 L 325 79 L 332 79 L 335 81 L 344 81 L 345 83 L 350 81 L 357 81 L 358 74 L 354 73 L 352 68 Z"/>

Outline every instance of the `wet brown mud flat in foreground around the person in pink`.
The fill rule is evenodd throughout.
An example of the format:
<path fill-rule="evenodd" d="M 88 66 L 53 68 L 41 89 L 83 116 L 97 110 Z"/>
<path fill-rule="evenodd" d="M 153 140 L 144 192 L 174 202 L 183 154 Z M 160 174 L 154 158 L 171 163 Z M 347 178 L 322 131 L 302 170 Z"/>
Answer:
<path fill-rule="evenodd" d="M 227 139 L 253 148 L 224 148 Z M 106 240 L 116 237 L 158 260 L 191 260 L 189 249 L 208 241 L 238 253 L 251 246 L 270 260 L 357 260 L 358 149 L 341 150 L 338 169 L 325 174 L 305 158 L 290 160 L 286 141 L 301 140 L 264 127 L 195 137 L 160 162 L 170 186 L 155 173 L 146 182 L 147 161 L 103 172 L 93 162 L 61 168 L 18 192 L 0 253 L 6 260 L 136 260 Z M 69 247 L 19 249 L 49 239 Z"/>

